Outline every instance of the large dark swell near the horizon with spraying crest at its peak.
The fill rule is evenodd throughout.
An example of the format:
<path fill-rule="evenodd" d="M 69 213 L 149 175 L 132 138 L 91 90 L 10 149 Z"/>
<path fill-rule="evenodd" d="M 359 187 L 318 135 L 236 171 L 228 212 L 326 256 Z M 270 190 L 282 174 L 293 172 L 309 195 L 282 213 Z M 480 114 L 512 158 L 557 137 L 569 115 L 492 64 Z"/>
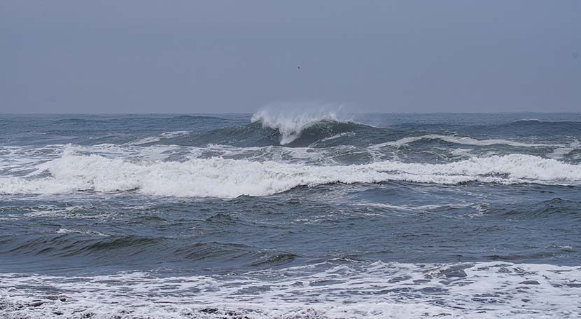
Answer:
<path fill-rule="evenodd" d="M 207 147 L 228 145 L 232 147 L 449 147 L 454 144 L 476 147 L 507 145 L 510 147 L 566 147 L 581 137 L 581 122 L 573 121 L 516 121 L 493 125 L 393 125 L 377 128 L 353 121 L 323 118 L 305 123 L 270 123 L 261 118 L 244 125 L 225 126 L 214 130 L 184 132 L 176 136 L 162 133 L 151 142 L 154 144 Z M 564 134 L 566 133 L 566 134 Z M 556 143 L 554 136 L 567 135 L 566 140 Z M 508 138 L 508 140 L 507 140 Z M 563 143 L 562 141 L 566 141 Z M 434 144 L 433 142 L 436 142 Z"/>

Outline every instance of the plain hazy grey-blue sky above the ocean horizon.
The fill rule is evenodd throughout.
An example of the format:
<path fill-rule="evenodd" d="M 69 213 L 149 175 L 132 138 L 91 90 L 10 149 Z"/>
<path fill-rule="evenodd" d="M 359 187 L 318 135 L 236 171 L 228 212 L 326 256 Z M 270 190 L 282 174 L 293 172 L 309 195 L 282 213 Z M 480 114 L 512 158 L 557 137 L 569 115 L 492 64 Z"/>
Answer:
<path fill-rule="evenodd" d="M 0 43 L 0 113 L 581 111 L 576 0 L 3 0 Z"/>

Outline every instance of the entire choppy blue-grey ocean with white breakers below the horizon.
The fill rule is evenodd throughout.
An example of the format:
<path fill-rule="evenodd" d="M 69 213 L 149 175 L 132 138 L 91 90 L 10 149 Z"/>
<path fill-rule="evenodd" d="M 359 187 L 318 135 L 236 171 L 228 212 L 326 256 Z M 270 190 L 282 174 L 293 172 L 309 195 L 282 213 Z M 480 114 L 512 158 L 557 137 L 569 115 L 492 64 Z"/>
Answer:
<path fill-rule="evenodd" d="M 0 318 L 581 318 L 581 114 L 1 115 Z"/>

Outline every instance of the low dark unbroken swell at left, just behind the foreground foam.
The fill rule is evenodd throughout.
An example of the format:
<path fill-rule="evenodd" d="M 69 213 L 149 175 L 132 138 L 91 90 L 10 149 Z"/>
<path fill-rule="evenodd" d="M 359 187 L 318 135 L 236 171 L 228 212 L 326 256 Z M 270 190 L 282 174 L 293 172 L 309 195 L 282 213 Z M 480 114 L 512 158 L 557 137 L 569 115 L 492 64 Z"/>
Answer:
<path fill-rule="evenodd" d="M 11 247 L 10 247 L 11 246 Z M 100 236 L 90 233 L 47 233 L 3 243 L 3 251 L 13 257 L 37 262 L 52 259 L 55 264 L 69 261 L 78 266 L 120 266 L 171 263 L 200 269 L 228 260 L 230 267 L 269 267 L 288 264 L 299 258 L 293 252 L 265 249 L 240 243 L 188 240 L 163 236 Z M 30 265 L 34 266 L 34 265 Z"/>

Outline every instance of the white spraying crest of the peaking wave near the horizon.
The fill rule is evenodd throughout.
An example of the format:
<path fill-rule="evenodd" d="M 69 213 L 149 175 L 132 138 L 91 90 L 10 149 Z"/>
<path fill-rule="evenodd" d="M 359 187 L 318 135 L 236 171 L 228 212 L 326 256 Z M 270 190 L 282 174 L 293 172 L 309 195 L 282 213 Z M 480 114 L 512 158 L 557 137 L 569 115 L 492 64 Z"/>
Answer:
<path fill-rule="evenodd" d="M 272 128 L 281 133 L 281 145 L 293 142 L 305 128 L 320 121 L 349 121 L 342 107 L 320 104 L 281 104 L 257 111 L 252 122 L 262 123 L 263 128 Z"/>

